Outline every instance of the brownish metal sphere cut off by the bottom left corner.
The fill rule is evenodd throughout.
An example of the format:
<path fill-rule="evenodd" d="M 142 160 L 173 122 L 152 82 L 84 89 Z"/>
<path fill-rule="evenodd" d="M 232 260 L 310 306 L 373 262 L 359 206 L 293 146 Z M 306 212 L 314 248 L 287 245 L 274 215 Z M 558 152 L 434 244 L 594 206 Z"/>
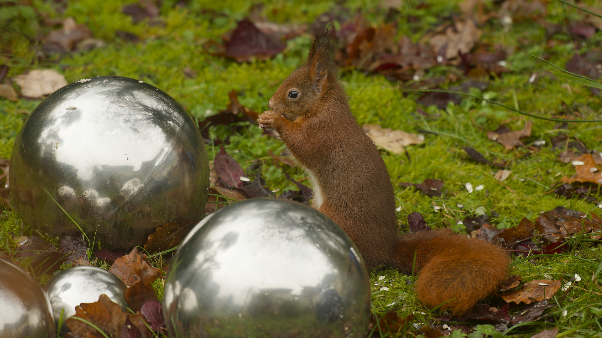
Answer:
<path fill-rule="evenodd" d="M 0 259 L 0 337 L 54 338 L 46 294 L 23 270 Z"/>

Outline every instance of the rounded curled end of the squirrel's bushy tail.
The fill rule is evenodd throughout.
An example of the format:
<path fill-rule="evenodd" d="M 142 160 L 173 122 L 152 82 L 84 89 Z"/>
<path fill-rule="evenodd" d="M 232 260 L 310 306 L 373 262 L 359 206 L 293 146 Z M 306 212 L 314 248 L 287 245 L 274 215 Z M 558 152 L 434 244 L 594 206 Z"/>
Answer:
<path fill-rule="evenodd" d="M 473 244 L 470 250 L 457 247 L 445 255 L 433 255 L 421 268 L 416 292 L 426 306 L 436 307 L 444 303 L 442 310 L 450 309 L 461 315 L 495 291 L 506 279 L 510 260 L 503 249 L 485 242 L 474 242 L 479 240 L 467 241 Z"/>

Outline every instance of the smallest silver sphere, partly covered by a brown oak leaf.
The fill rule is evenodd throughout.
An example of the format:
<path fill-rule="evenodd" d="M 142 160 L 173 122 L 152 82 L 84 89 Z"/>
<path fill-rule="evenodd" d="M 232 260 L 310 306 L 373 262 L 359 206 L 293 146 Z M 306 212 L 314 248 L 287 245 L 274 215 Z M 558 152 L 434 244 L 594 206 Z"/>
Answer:
<path fill-rule="evenodd" d="M 107 295 L 113 303 L 126 309 L 125 291 L 128 289 L 114 274 L 97 267 L 73 267 L 61 271 L 44 286 L 50 304 L 52 316 L 58 325 L 63 312 L 63 327 L 69 328 L 65 321 L 75 315 L 75 307 L 81 303 L 94 303 L 101 295 Z"/>

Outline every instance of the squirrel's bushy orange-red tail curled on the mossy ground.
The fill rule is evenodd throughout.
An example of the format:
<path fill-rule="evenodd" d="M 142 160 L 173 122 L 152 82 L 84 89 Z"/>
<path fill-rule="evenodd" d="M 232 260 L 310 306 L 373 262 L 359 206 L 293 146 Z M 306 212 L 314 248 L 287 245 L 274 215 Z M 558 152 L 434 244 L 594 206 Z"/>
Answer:
<path fill-rule="evenodd" d="M 398 237 L 389 265 L 418 273 L 415 288 L 426 306 L 461 314 L 506 279 L 509 263 L 505 250 L 445 229 Z"/>

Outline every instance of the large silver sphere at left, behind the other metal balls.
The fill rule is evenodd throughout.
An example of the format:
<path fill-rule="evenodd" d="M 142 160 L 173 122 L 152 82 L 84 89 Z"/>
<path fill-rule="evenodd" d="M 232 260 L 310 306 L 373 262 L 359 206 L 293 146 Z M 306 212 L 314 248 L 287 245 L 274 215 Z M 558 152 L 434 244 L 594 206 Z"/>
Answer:
<path fill-rule="evenodd" d="M 82 83 L 83 82 L 83 83 Z M 71 83 L 34 109 L 17 136 L 10 192 L 25 222 L 129 252 L 157 226 L 198 222 L 209 165 L 193 119 L 160 89 L 128 77 Z"/>

